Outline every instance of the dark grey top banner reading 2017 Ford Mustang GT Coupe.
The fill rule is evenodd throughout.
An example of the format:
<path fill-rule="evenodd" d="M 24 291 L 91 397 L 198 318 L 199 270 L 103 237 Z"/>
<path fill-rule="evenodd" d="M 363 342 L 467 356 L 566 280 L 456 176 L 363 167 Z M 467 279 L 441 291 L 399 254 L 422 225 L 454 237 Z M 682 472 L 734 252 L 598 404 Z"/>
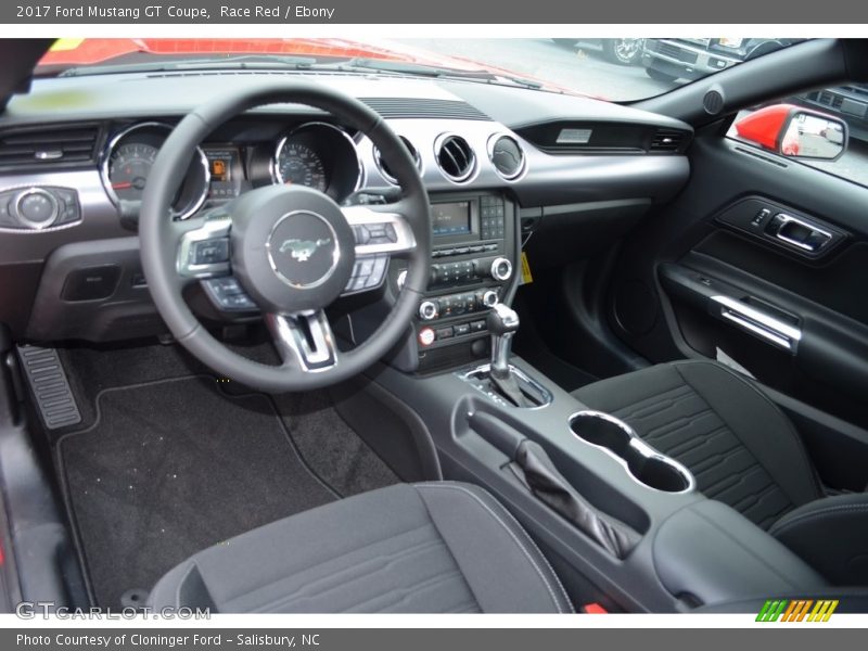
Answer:
<path fill-rule="evenodd" d="M 475 2 L 437 0 L 18 0 L 0 5 L 4 24 L 859 24 L 868 3 L 852 0 L 655 0 L 654 2 Z M 482 36 L 498 36 L 496 33 Z"/>

